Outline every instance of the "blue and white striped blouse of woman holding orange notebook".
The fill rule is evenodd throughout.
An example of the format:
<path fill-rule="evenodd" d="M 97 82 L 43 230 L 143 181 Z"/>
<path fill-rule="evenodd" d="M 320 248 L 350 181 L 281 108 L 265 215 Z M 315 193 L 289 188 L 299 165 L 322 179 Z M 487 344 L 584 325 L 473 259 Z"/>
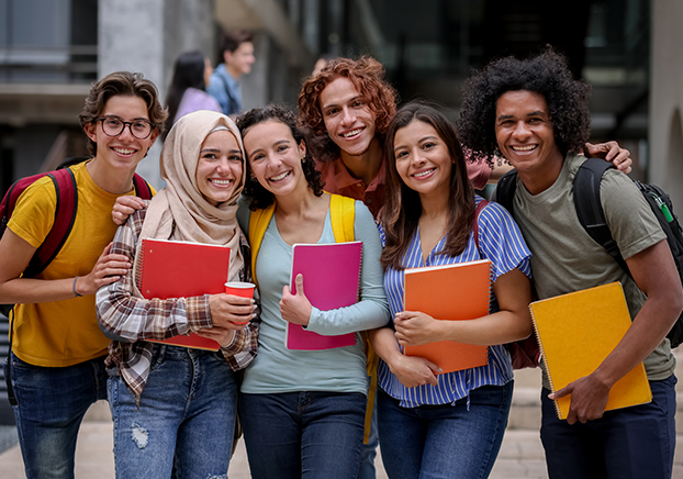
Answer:
<path fill-rule="evenodd" d="M 482 198 L 477 197 L 477 203 L 480 201 L 482 201 Z M 384 244 L 384 232 L 381 226 L 380 235 L 382 244 Z M 493 281 L 499 276 L 514 268 L 519 269 L 529 278 L 531 276 L 529 267 L 531 253 L 527 248 L 517 224 L 507 211 L 497 203 L 489 203 L 479 214 L 479 247 L 481 256 L 472 234 L 470 234 L 467 247 L 457 257 L 438 253 L 443 248 L 445 241 L 443 238 L 429 253 L 427 260 L 423 261 L 419 231 L 417 230 L 403 259 L 403 265 L 406 268 L 449 265 L 477 260 L 483 256 L 485 259 L 491 259 L 493 264 Z M 384 291 L 387 292 L 389 308 L 393 318 L 396 313 L 403 311 L 403 271 L 387 268 L 384 271 Z M 495 301 L 493 301 L 493 311 L 496 311 Z M 425 385 L 406 388 L 390 371 L 389 366 L 384 361 L 380 361 L 378 371 L 379 386 L 388 394 L 400 400 L 400 404 L 404 408 L 415 408 L 422 404 L 455 403 L 458 399 L 469 396 L 469 391 L 480 386 L 502 386 L 513 379 L 510 354 L 505 346 L 502 345 L 489 348 L 489 364 L 486 366 L 438 375 L 437 386 Z"/>

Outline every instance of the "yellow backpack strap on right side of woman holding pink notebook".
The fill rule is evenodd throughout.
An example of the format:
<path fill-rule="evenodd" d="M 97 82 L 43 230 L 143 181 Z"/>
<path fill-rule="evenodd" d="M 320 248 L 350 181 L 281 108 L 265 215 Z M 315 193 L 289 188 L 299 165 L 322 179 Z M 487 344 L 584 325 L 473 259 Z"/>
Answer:
<path fill-rule="evenodd" d="M 338 194 L 331 194 L 329 220 L 337 243 L 356 241 L 356 200 Z M 370 438 L 370 424 L 372 423 L 372 411 L 374 410 L 374 397 L 377 394 L 377 366 L 379 364 L 379 356 L 370 345 L 368 333 L 362 331 L 360 336 L 362 337 L 366 357 L 368 358 L 367 368 L 368 376 L 370 377 L 368 406 L 366 408 L 366 432 L 363 436 L 363 443 L 368 444 Z"/>

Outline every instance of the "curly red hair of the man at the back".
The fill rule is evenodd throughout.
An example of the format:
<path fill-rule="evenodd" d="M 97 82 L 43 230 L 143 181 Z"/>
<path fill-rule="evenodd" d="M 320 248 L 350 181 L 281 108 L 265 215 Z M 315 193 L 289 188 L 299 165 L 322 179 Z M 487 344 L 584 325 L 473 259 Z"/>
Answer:
<path fill-rule="evenodd" d="M 339 147 L 327 134 L 320 104 L 322 91 L 337 78 L 348 78 L 376 116 L 376 132 L 382 143 L 387 126 L 396 112 L 399 96 L 384 80 L 384 67 L 374 58 L 334 58 L 317 75 L 309 77 L 299 93 L 299 124 L 309 134 L 309 145 L 318 161 L 339 157 Z"/>

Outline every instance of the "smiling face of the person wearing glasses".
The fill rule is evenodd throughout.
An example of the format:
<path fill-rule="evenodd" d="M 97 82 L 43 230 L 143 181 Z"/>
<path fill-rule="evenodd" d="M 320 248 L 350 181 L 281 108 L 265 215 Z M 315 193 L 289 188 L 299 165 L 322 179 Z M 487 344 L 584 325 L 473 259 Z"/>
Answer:
<path fill-rule="evenodd" d="M 103 116 L 116 116 L 124 122 L 149 121 L 145 100 L 139 97 L 123 94 L 111 97 L 104 103 L 99 118 Z M 96 160 L 107 164 L 110 168 L 126 171 L 135 169 L 159 133 L 157 129 L 153 129 L 149 136 L 137 140 L 131 134 L 130 126 L 126 125 L 117 136 L 109 136 L 102 130 L 102 122 L 100 121 L 87 124 L 83 130 L 98 146 Z"/>

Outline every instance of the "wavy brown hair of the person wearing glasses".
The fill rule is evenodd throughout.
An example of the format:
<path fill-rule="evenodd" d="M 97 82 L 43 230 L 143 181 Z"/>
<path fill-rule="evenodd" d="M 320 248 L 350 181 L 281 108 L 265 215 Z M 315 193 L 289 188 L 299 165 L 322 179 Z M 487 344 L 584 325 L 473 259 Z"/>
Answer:
<path fill-rule="evenodd" d="M 86 97 L 86 104 L 78 115 L 81 129 L 88 123 L 97 122 L 109 99 L 119 94 L 142 98 L 147 104 L 149 121 L 159 133 L 164 133 L 164 122 L 168 112 L 159 101 L 157 87 L 143 74 L 131 71 L 114 71 L 92 85 Z M 88 137 L 88 152 L 93 156 L 98 153 L 98 145 L 90 137 Z"/>

